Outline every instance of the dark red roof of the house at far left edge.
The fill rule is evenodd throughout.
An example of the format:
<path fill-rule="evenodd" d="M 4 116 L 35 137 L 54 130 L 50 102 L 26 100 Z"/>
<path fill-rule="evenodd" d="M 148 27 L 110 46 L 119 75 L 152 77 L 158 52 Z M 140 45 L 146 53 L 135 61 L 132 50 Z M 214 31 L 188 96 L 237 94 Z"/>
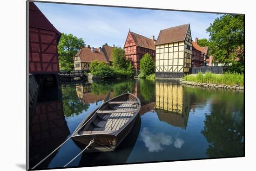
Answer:
<path fill-rule="evenodd" d="M 29 27 L 54 31 L 57 33 L 59 38 L 61 36 L 61 33 L 45 17 L 45 15 L 39 10 L 39 8 L 34 4 L 34 2 L 29 2 Z"/>

